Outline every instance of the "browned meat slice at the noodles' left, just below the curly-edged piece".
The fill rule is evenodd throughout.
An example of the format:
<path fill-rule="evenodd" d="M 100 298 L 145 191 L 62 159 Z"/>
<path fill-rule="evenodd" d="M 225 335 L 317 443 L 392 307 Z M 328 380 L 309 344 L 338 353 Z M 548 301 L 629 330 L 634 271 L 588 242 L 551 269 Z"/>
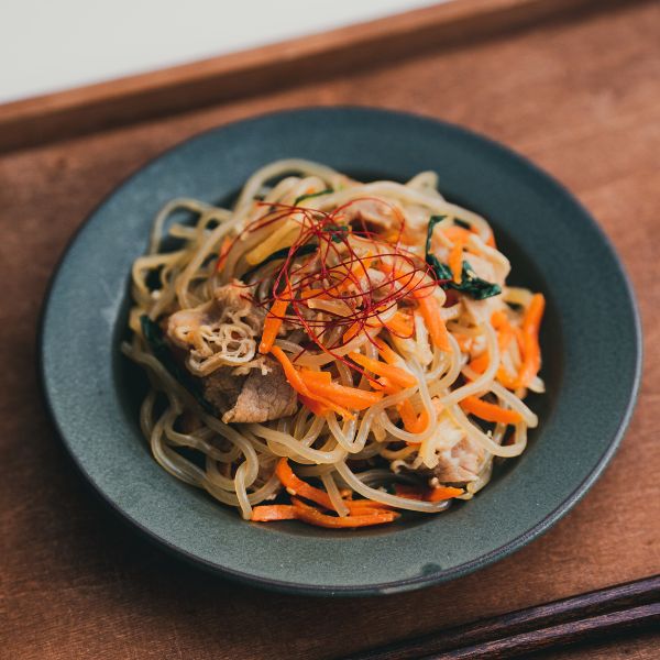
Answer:
<path fill-rule="evenodd" d="M 268 373 L 253 369 L 246 376 L 221 367 L 205 377 L 206 398 L 222 413 L 222 421 L 262 422 L 287 417 L 296 411 L 296 393 L 287 383 L 279 363 L 265 358 Z"/>

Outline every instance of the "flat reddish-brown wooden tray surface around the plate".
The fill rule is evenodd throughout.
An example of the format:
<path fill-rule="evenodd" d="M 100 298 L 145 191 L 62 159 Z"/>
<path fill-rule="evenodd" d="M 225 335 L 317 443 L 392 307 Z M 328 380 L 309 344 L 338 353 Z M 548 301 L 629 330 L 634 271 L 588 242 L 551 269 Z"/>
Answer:
<path fill-rule="evenodd" d="M 332 658 L 658 572 L 659 35 L 660 4 L 632 4 L 0 157 L 0 657 Z M 584 501 L 495 565 L 378 600 L 271 594 L 162 554 L 90 495 L 48 421 L 35 370 L 48 277 L 122 178 L 202 129 L 336 103 L 439 117 L 534 158 L 613 240 L 645 329 L 632 424 Z M 544 657 L 656 658 L 657 645 L 644 635 Z"/>

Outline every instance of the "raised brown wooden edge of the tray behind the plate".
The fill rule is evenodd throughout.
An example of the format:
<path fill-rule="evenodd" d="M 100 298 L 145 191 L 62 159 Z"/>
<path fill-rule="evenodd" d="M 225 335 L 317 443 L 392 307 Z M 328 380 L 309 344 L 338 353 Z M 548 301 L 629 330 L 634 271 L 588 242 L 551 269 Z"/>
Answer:
<path fill-rule="evenodd" d="M 461 0 L 0 106 L 0 151 L 33 146 L 464 44 L 614 0 Z"/>

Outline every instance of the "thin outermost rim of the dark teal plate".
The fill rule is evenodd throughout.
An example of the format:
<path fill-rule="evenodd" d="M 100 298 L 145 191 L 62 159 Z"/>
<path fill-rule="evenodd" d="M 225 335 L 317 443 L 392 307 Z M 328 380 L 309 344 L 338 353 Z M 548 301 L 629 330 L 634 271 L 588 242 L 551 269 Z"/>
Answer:
<path fill-rule="evenodd" d="M 89 472 L 84 468 L 80 460 L 78 459 L 74 448 L 69 443 L 66 433 L 64 432 L 64 428 L 61 424 L 61 419 L 58 419 L 55 407 L 54 407 L 54 398 L 52 398 L 52 393 L 48 391 L 46 383 L 46 366 L 45 366 L 45 355 L 47 353 L 47 346 L 45 342 L 45 319 L 48 314 L 50 305 L 52 302 L 52 295 L 57 285 L 58 276 L 62 272 L 62 267 L 64 263 L 67 261 L 72 249 L 77 242 L 80 233 L 87 228 L 91 219 L 100 211 L 101 208 L 105 207 L 107 202 L 109 202 L 117 194 L 119 194 L 124 186 L 127 186 L 134 177 L 140 175 L 142 170 L 150 167 L 161 158 L 166 157 L 167 155 L 176 152 L 184 145 L 189 145 L 193 142 L 201 141 L 209 134 L 221 132 L 226 129 L 230 129 L 238 125 L 249 125 L 253 122 L 260 122 L 264 119 L 276 118 L 278 116 L 290 116 L 290 114 L 308 114 L 308 113 L 337 113 L 337 112 L 345 112 L 345 113 L 378 113 L 382 116 L 389 116 L 392 119 L 396 118 L 406 118 L 407 120 L 420 121 L 429 124 L 430 127 L 443 127 L 453 132 L 461 133 L 470 139 L 476 139 L 479 141 L 487 143 L 488 147 L 498 151 L 499 153 L 506 155 L 509 158 L 514 158 L 518 161 L 520 165 L 524 165 L 527 169 L 534 172 L 535 176 L 540 177 L 544 180 L 546 184 L 550 184 L 558 191 L 560 191 L 572 205 L 578 207 L 584 217 L 584 220 L 590 223 L 591 229 L 595 231 L 598 235 L 601 242 L 606 246 L 607 251 L 613 257 L 613 262 L 617 267 L 617 275 L 620 277 L 620 280 L 624 285 L 624 290 L 627 297 L 627 300 L 630 306 L 631 315 L 631 324 L 634 330 L 634 351 L 635 351 L 635 364 L 632 369 L 632 383 L 629 393 L 626 395 L 626 406 L 625 409 L 622 410 L 622 416 L 619 424 L 616 428 L 615 433 L 612 437 L 612 440 L 607 444 L 605 451 L 601 454 L 594 468 L 591 472 L 583 479 L 583 481 L 572 491 L 572 493 L 564 498 L 564 501 L 557 506 L 551 513 L 541 518 L 536 525 L 529 528 L 521 535 L 518 535 L 516 538 L 510 541 L 491 550 L 490 552 L 480 556 L 476 559 L 463 562 L 459 565 L 449 569 L 442 569 L 437 573 L 429 573 L 422 575 L 416 575 L 413 578 L 403 578 L 398 580 L 393 580 L 391 582 L 382 582 L 382 583 L 365 583 L 360 585 L 334 585 L 329 586 L 324 584 L 300 584 L 297 582 L 290 582 L 285 580 L 277 580 L 273 578 L 266 578 L 261 575 L 255 575 L 249 572 L 239 571 L 233 568 L 229 568 L 226 565 L 221 565 L 219 563 L 209 561 L 201 557 L 196 556 L 193 552 L 189 552 L 187 549 L 180 548 L 177 544 L 173 543 L 168 539 L 164 538 L 160 534 L 155 532 L 152 529 L 145 527 L 142 522 L 136 520 L 132 515 L 130 515 L 127 510 L 121 508 L 109 495 L 107 495 L 101 487 L 96 483 L 94 477 L 89 474 Z M 644 341 L 642 341 L 642 329 L 641 329 L 641 320 L 639 312 L 639 304 L 637 297 L 635 295 L 635 289 L 632 287 L 631 279 L 626 271 L 626 267 L 620 258 L 618 252 L 616 251 L 614 244 L 609 240 L 608 235 L 605 233 L 601 224 L 595 220 L 592 213 L 582 205 L 582 202 L 569 190 L 559 179 L 554 178 L 553 175 L 549 174 L 540 166 L 536 165 L 532 161 L 530 161 L 527 156 L 520 154 L 512 147 L 494 140 L 493 138 L 480 133 L 477 131 L 473 131 L 472 129 L 468 129 L 463 125 L 455 124 L 453 122 L 449 122 L 442 119 L 437 119 L 430 116 L 425 116 L 421 113 L 410 112 L 410 111 L 399 111 L 399 110 L 389 110 L 378 107 L 372 106 L 351 106 L 351 105 L 342 105 L 342 106 L 306 106 L 306 107 L 297 107 L 297 108 L 286 108 L 276 110 L 273 112 L 258 113 L 255 116 L 250 116 L 248 118 L 239 119 L 235 121 L 213 125 L 211 128 L 205 129 L 197 133 L 194 133 L 166 150 L 160 151 L 154 156 L 147 158 L 142 164 L 140 164 L 136 168 L 132 169 L 125 177 L 121 178 L 117 185 L 114 185 L 100 200 L 97 205 L 92 207 L 92 209 L 87 213 L 82 222 L 75 229 L 72 233 L 70 238 L 65 244 L 62 254 L 59 255 L 53 271 L 51 273 L 48 284 L 46 286 L 44 297 L 42 300 L 40 316 L 37 320 L 37 332 L 36 332 L 36 366 L 38 374 L 38 387 L 42 400 L 45 403 L 45 407 L 48 414 L 48 417 L 57 431 L 57 436 L 59 440 L 64 444 L 67 454 L 72 458 L 74 465 L 78 473 L 84 476 L 85 483 L 91 487 L 92 492 L 96 496 L 106 505 L 114 515 L 117 515 L 122 521 L 127 522 L 130 527 L 134 528 L 139 531 L 140 536 L 146 538 L 148 541 L 156 543 L 160 548 L 165 550 L 170 556 L 176 556 L 177 558 L 183 559 L 188 564 L 193 564 L 197 568 L 200 568 L 207 572 L 210 572 L 215 575 L 219 575 L 231 580 L 233 582 L 238 582 L 241 584 L 246 584 L 250 586 L 258 586 L 268 588 L 271 591 L 286 593 L 286 594 L 300 594 L 300 595 L 312 595 L 312 596 L 344 596 L 344 597 L 361 597 L 361 596 L 373 596 L 373 595 L 391 595 L 395 593 L 404 593 L 409 592 L 422 587 L 428 587 L 432 585 L 437 585 L 443 582 L 449 582 L 451 580 L 455 580 L 463 575 L 468 575 L 474 571 L 481 570 L 487 565 L 491 565 L 497 562 L 505 557 L 508 557 L 516 551 L 520 550 L 522 547 L 527 546 L 532 540 L 539 538 L 543 534 L 546 534 L 551 527 L 553 527 L 563 516 L 565 516 L 570 510 L 574 508 L 574 506 L 585 496 L 588 490 L 593 486 L 593 484 L 600 479 L 603 474 L 604 470 L 607 468 L 614 455 L 616 454 L 620 443 L 623 441 L 624 435 L 630 424 L 630 419 L 635 411 L 635 407 L 638 402 L 639 389 L 640 389 L 640 381 L 641 381 L 641 372 L 642 372 L 642 359 L 644 359 Z"/>

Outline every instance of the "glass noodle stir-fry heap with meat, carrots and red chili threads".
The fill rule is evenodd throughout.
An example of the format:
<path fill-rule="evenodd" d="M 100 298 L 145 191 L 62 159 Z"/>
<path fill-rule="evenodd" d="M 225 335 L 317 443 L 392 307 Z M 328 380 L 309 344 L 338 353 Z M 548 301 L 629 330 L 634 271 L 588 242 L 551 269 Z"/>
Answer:
<path fill-rule="evenodd" d="M 175 221 L 185 211 L 193 222 Z M 173 218 L 174 216 L 174 218 Z M 525 451 L 544 299 L 438 177 L 288 160 L 233 208 L 174 199 L 132 270 L 140 425 L 172 475 L 246 520 L 437 514 Z"/>

